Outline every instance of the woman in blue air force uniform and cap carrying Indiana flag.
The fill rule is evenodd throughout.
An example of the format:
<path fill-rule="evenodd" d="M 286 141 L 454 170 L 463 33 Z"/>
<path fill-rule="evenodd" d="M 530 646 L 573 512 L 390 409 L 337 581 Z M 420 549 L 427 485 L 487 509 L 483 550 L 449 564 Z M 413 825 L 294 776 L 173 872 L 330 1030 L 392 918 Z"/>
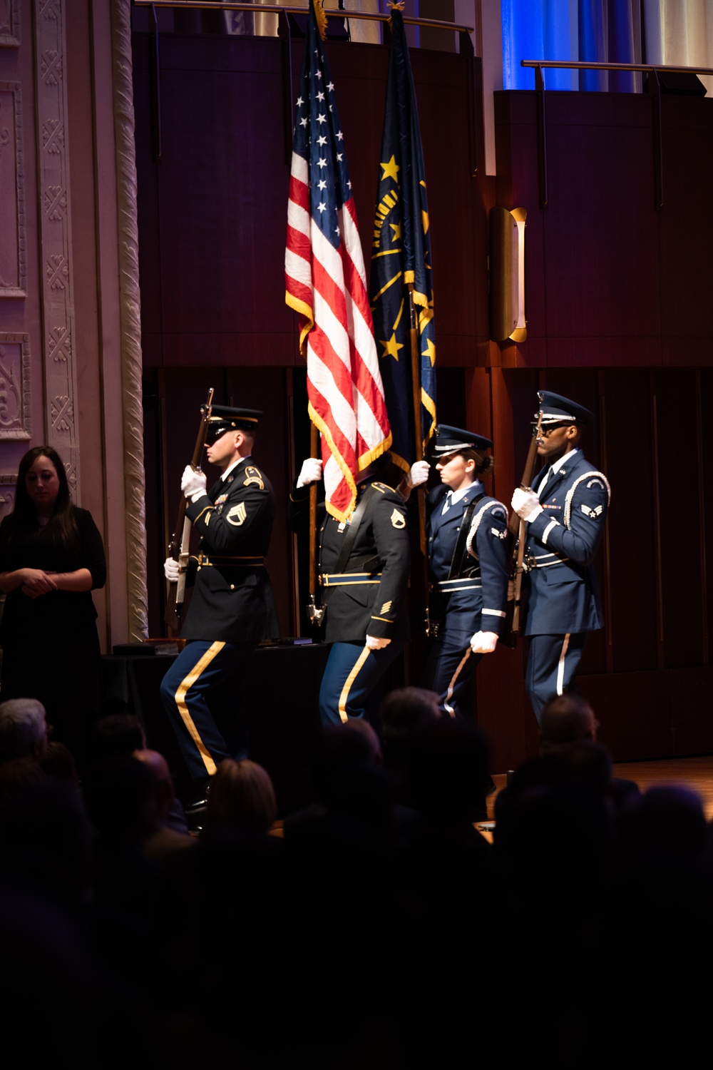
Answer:
<path fill-rule="evenodd" d="M 437 622 L 421 685 L 440 708 L 462 713 L 461 702 L 483 654 L 492 654 L 508 601 L 508 510 L 485 494 L 478 478 L 493 469 L 482 434 L 441 424 L 434 456 L 441 486 L 428 499 L 430 614 Z M 425 461 L 412 467 L 409 485 L 428 478 Z"/>

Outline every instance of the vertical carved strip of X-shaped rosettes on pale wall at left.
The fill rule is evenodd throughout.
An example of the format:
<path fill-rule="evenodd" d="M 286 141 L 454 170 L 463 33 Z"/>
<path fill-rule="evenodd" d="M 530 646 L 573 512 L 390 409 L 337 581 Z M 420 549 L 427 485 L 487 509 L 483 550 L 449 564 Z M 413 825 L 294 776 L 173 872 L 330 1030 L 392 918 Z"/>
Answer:
<path fill-rule="evenodd" d="M 43 363 L 46 438 L 79 489 L 72 198 L 66 151 L 65 3 L 66 0 L 34 0 Z"/>

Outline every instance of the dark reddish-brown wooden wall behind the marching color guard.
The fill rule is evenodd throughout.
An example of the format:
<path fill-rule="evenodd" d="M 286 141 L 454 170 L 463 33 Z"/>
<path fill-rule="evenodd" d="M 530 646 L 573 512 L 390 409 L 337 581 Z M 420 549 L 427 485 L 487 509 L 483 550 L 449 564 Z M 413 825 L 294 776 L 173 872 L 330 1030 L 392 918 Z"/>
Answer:
<path fill-rule="evenodd" d="M 328 52 L 368 264 L 387 49 L 330 42 Z M 300 56 L 295 43 L 293 80 Z M 148 36 L 137 34 L 152 633 L 160 631 L 160 563 L 180 473 L 213 385 L 218 401 L 265 410 L 257 456 L 278 500 L 269 568 L 282 631 L 294 635 L 303 594 L 282 503 L 308 427 L 297 321 L 283 304 L 286 52 L 278 40 L 161 36 L 160 160 L 149 57 Z M 589 638 L 582 690 L 617 758 L 709 750 L 713 224 L 703 207 L 713 105 L 663 102 L 665 202 L 656 211 L 651 100 L 548 94 L 543 210 L 534 94 L 498 94 L 498 177 L 487 179 L 474 166 L 482 158 L 478 61 L 420 50 L 412 62 L 433 235 L 439 416 L 491 434 L 493 489 L 509 504 L 536 389 L 592 409 L 585 450 L 608 474 L 614 498 L 598 559 L 607 623 Z M 528 338 L 517 346 L 489 341 L 494 203 L 528 212 Z M 499 649 L 478 672 L 477 716 L 497 769 L 537 743 L 524 657 L 522 647 Z"/>

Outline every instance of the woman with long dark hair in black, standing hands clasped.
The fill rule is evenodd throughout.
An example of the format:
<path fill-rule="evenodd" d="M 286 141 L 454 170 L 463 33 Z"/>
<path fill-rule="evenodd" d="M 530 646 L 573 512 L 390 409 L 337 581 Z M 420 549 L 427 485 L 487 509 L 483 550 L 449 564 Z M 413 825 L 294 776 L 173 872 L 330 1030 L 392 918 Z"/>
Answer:
<path fill-rule="evenodd" d="M 14 511 L 0 524 L 0 701 L 38 699 L 55 738 L 81 759 L 86 728 L 99 712 L 99 642 L 91 592 L 106 580 L 92 516 L 69 501 L 51 446 L 20 461 Z"/>

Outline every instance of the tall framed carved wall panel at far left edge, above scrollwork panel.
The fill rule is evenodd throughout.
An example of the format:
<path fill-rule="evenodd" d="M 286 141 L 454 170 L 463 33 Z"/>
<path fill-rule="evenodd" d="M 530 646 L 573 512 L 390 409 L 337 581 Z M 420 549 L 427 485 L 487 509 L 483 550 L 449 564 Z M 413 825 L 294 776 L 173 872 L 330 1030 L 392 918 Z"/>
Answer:
<path fill-rule="evenodd" d="M 21 91 L 17 81 L 0 81 L 0 297 L 24 297 L 25 167 Z"/>

